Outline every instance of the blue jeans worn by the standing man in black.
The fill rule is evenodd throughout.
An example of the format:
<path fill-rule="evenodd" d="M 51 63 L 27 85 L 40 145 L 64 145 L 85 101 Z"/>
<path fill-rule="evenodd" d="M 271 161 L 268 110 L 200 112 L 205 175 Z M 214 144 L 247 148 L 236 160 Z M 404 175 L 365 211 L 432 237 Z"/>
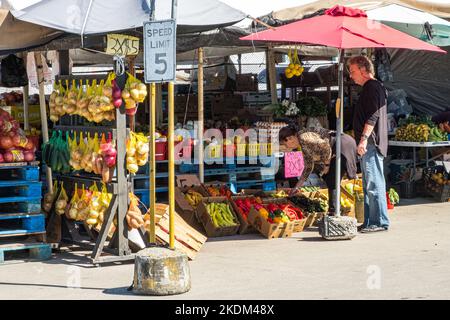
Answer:
<path fill-rule="evenodd" d="M 361 160 L 364 190 L 363 227 L 375 225 L 389 228 L 383 158 L 373 144 L 367 145 L 367 153 Z"/>

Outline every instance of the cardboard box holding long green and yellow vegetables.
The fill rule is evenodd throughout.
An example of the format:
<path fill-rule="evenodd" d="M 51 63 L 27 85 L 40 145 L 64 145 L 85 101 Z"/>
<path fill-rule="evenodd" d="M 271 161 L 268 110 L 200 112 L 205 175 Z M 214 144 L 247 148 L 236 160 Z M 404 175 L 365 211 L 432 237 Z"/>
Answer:
<path fill-rule="evenodd" d="M 216 202 L 216 203 L 227 203 L 230 206 L 230 211 L 234 215 L 236 221 L 238 223 L 236 226 L 232 227 L 216 227 L 211 219 L 211 216 L 209 215 L 206 206 L 209 203 Z M 228 200 L 226 197 L 210 197 L 205 198 L 200 203 L 200 205 L 197 208 L 197 218 L 202 223 L 203 227 L 206 230 L 206 234 L 208 237 L 225 237 L 225 236 L 232 236 L 237 234 L 240 224 L 239 224 L 239 218 L 236 215 L 236 212 L 233 209 L 233 206 L 231 205 L 230 200 Z"/>

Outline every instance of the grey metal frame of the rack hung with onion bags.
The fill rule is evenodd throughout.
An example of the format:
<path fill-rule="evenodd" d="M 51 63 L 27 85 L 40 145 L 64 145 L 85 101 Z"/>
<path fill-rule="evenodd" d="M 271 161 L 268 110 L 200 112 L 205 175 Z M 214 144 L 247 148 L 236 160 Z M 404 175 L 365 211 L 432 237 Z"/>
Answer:
<path fill-rule="evenodd" d="M 61 80 L 68 79 L 80 80 L 86 79 L 86 77 L 69 76 L 61 77 Z M 97 78 L 98 79 L 98 78 Z M 58 79 L 57 79 L 58 80 Z M 124 88 L 126 82 L 126 75 L 117 76 L 117 84 L 119 87 Z M 75 119 L 76 120 L 76 119 Z M 71 122 L 73 119 L 71 117 Z M 55 126 L 55 130 L 62 131 L 74 131 L 74 132 L 111 132 L 113 138 L 116 140 L 117 149 L 117 163 L 114 178 L 110 183 L 107 183 L 108 192 L 113 194 L 109 208 L 106 210 L 101 230 L 98 235 L 95 234 L 86 224 L 84 224 L 86 231 L 89 234 L 90 240 L 86 240 L 79 233 L 79 226 L 75 221 L 66 219 L 62 216 L 64 224 L 69 230 L 69 234 L 72 238 L 72 243 L 80 245 L 81 247 L 92 250 L 91 261 L 93 264 L 111 263 L 133 260 L 135 255 L 132 254 L 128 245 L 128 228 L 126 223 L 126 213 L 129 203 L 129 192 L 131 190 L 130 179 L 127 176 L 125 167 L 126 157 L 126 139 L 128 136 L 127 121 L 125 114 L 125 106 L 116 109 L 116 120 L 112 122 L 112 126 L 77 126 L 77 125 L 61 125 Z M 66 175 L 59 175 L 59 179 L 74 184 L 75 182 L 82 182 L 86 187 L 89 187 L 93 183 L 101 182 L 99 176 L 84 175 L 80 173 L 70 173 Z M 108 240 L 108 234 L 113 224 L 113 220 L 117 216 L 117 225 L 114 235 L 109 240 L 107 247 L 106 242 Z M 95 242 L 95 243 L 93 243 Z M 102 255 L 102 253 L 108 255 Z"/>

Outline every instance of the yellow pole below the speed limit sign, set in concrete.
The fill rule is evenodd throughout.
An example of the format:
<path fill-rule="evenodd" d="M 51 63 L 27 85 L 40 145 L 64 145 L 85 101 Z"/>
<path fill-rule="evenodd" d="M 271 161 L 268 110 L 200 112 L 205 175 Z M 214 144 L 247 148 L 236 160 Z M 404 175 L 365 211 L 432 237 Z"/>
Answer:
<path fill-rule="evenodd" d="M 150 243 L 156 243 L 155 212 L 156 212 L 156 162 L 155 162 L 155 131 L 156 131 L 156 85 L 149 85 L 150 91 Z"/>

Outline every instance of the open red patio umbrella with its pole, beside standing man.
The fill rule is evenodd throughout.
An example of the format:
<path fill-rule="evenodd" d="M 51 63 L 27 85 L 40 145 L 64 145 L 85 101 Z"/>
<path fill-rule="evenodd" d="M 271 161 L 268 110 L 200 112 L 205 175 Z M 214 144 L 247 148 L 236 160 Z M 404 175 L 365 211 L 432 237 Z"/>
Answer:
<path fill-rule="evenodd" d="M 340 49 L 339 99 L 336 103 L 336 131 L 342 133 L 344 101 L 344 50 L 354 48 L 400 48 L 447 53 L 436 46 L 411 37 L 367 18 L 360 9 L 336 5 L 324 15 L 296 21 L 240 38 L 264 42 L 290 42 L 324 45 Z M 340 214 L 341 136 L 336 139 L 336 214 Z"/>

